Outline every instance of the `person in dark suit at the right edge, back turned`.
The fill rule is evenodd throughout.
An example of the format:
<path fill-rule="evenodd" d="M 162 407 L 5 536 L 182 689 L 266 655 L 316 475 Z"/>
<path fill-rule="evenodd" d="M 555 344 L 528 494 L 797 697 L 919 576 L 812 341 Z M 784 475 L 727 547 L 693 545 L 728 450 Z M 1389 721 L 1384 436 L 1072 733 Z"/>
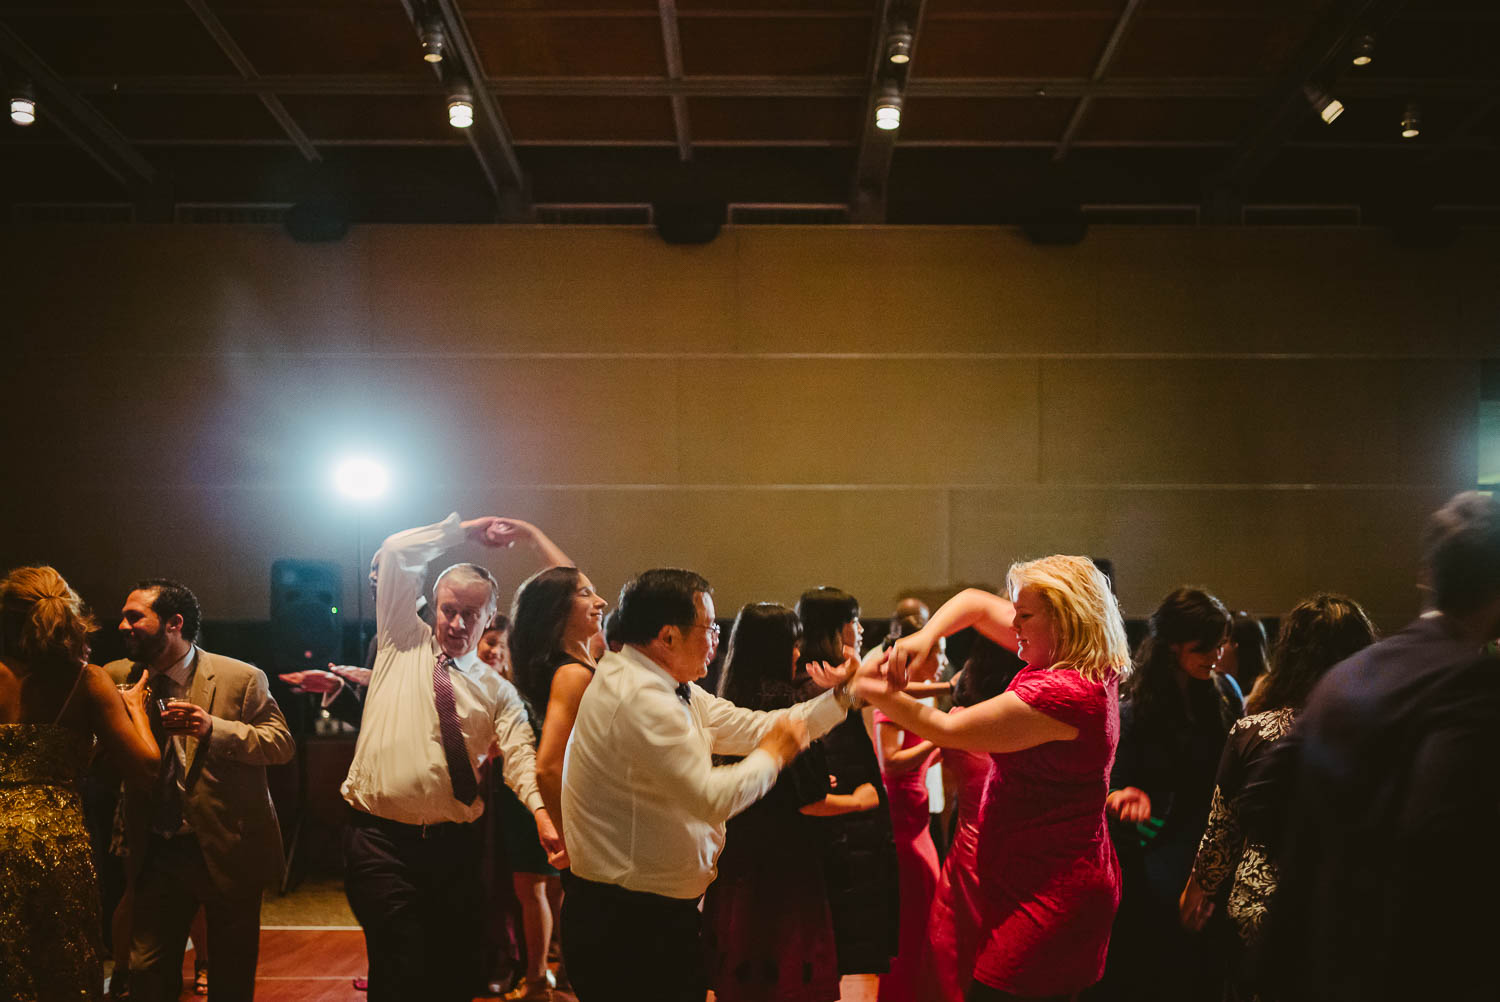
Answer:
<path fill-rule="evenodd" d="M 1334 668 L 1236 801 L 1276 852 L 1270 994 L 1492 999 L 1500 942 L 1500 502 L 1424 537 L 1431 608 Z"/>

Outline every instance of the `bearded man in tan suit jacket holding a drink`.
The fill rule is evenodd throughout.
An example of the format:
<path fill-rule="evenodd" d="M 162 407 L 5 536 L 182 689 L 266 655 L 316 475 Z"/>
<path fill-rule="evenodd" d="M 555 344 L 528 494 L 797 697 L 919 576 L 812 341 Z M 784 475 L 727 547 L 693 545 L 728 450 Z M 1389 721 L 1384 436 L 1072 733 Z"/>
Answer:
<path fill-rule="evenodd" d="M 129 676 L 150 676 L 162 746 L 158 782 L 126 796 L 138 1002 L 177 999 L 200 906 L 213 940 L 213 998 L 252 999 L 261 892 L 282 873 L 266 766 L 291 759 L 292 738 L 261 669 L 194 644 L 200 620 L 194 594 L 166 579 L 138 584 L 120 612 Z"/>

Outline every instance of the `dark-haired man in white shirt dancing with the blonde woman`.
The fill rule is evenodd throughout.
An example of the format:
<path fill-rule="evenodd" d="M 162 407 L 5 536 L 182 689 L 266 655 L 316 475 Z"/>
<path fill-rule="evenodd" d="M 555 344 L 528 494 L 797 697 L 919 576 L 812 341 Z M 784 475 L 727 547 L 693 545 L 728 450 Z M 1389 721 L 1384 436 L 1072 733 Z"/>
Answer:
<path fill-rule="evenodd" d="M 718 640 L 712 590 L 693 572 L 645 572 L 618 615 L 624 646 L 585 690 L 562 765 L 562 952 L 580 1002 L 702 1002 L 698 902 L 724 822 L 842 722 L 849 698 L 837 669 L 812 669 L 832 692 L 774 712 L 693 686 Z M 746 758 L 716 766 L 712 754 Z"/>

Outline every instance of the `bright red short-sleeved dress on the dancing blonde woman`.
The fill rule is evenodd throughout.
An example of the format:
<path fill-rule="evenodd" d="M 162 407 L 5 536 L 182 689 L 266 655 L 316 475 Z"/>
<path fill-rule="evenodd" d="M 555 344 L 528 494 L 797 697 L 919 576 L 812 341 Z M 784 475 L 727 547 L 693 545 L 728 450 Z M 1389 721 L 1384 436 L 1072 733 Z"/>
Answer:
<path fill-rule="evenodd" d="M 1104 822 L 1119 680 L 1028 668 L 1006 692 L 1078 736 L 990 756 L 980 810 L 984 934 L 974 976 L 1020 996 L 1070 994 L 1102 975 L 1120 900 Z"/>

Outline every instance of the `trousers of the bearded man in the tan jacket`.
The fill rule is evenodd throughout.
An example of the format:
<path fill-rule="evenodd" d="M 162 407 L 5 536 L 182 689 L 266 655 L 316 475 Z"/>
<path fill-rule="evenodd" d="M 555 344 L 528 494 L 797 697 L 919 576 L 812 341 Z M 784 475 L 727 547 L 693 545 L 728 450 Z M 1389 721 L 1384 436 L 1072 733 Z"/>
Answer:
<path fill-rule="evenodd" d="M 222 894 L 190 834 L 152 836 L 144 852 L 130 908 L 130 998 L 177 1000 L 188 927 L 201 904 L 213 940 L 214 1002 L 254 999 L 261 948 L 260 888 L 249 894 Z"/>

